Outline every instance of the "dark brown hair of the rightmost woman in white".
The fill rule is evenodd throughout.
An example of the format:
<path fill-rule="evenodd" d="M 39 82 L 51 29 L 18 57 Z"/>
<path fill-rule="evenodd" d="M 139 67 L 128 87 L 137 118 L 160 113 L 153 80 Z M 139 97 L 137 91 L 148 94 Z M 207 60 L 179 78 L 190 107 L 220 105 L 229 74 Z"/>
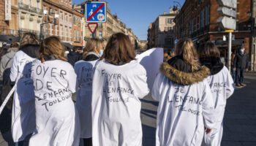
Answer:
<path fill-rule="evenodd" d="M 200 57 L 217 57 L 219 58 L 220 53 L 218 47 L 212 42 L 206 42 L 206 45 L 199 48 Z"/>

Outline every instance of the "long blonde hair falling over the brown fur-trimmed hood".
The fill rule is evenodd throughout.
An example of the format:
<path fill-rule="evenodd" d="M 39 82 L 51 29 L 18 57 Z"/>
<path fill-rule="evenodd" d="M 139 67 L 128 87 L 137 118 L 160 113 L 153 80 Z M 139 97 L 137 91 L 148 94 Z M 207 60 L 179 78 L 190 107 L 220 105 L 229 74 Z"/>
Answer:
<path fill-rule="evenodd" d="M 191 39 L 181 39 L 175 49 L 176 55 L 181 55 L 187 64 L 191 65 L 192 72 L 200 68 L 197 50 Z"/>

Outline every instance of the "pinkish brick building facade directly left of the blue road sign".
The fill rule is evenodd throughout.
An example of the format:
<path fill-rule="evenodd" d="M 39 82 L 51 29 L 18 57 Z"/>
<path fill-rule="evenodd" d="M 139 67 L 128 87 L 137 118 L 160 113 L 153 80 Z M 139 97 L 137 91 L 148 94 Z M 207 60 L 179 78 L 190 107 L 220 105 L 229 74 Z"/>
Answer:
<path fill-rule="evenodd" d="M 43 0 L 42 9 L 47 12 L 43 23 L 52 22 L 56 16 L 57 23 L 47 23 L 42 27 L 44 37 L 58 36 L 61 42 L 83 46 L 81 19 L 83 15 L 72 9 L 70 0 Z"/>

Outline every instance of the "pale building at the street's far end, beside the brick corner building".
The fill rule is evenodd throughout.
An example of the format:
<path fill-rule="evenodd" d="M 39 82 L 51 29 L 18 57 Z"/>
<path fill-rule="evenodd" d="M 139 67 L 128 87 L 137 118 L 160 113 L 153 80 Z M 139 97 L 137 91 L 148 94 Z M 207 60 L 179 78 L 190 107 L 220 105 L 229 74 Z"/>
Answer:
<path fill-rule="evenodd" d="M 174 41 L 176 39 L 174 34 L 174 18 L 176 11 L 170 9 L 169 13 L 159 15 L 154 23 L 148 27 L 148 48 L 163 47 L 165 50 L 173 50 Z"/>

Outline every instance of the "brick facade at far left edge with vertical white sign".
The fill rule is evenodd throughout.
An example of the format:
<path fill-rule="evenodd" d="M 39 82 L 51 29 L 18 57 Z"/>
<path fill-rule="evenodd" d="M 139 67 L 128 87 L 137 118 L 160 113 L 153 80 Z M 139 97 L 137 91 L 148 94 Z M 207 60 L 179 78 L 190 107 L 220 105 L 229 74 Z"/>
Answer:
<path fill-rule="evenodd" d="M 10 11 L 10 18 L 6 18 L 6 9 Z M 0 35 L 18 36 L 18 0 L 0 1 Z"/>

